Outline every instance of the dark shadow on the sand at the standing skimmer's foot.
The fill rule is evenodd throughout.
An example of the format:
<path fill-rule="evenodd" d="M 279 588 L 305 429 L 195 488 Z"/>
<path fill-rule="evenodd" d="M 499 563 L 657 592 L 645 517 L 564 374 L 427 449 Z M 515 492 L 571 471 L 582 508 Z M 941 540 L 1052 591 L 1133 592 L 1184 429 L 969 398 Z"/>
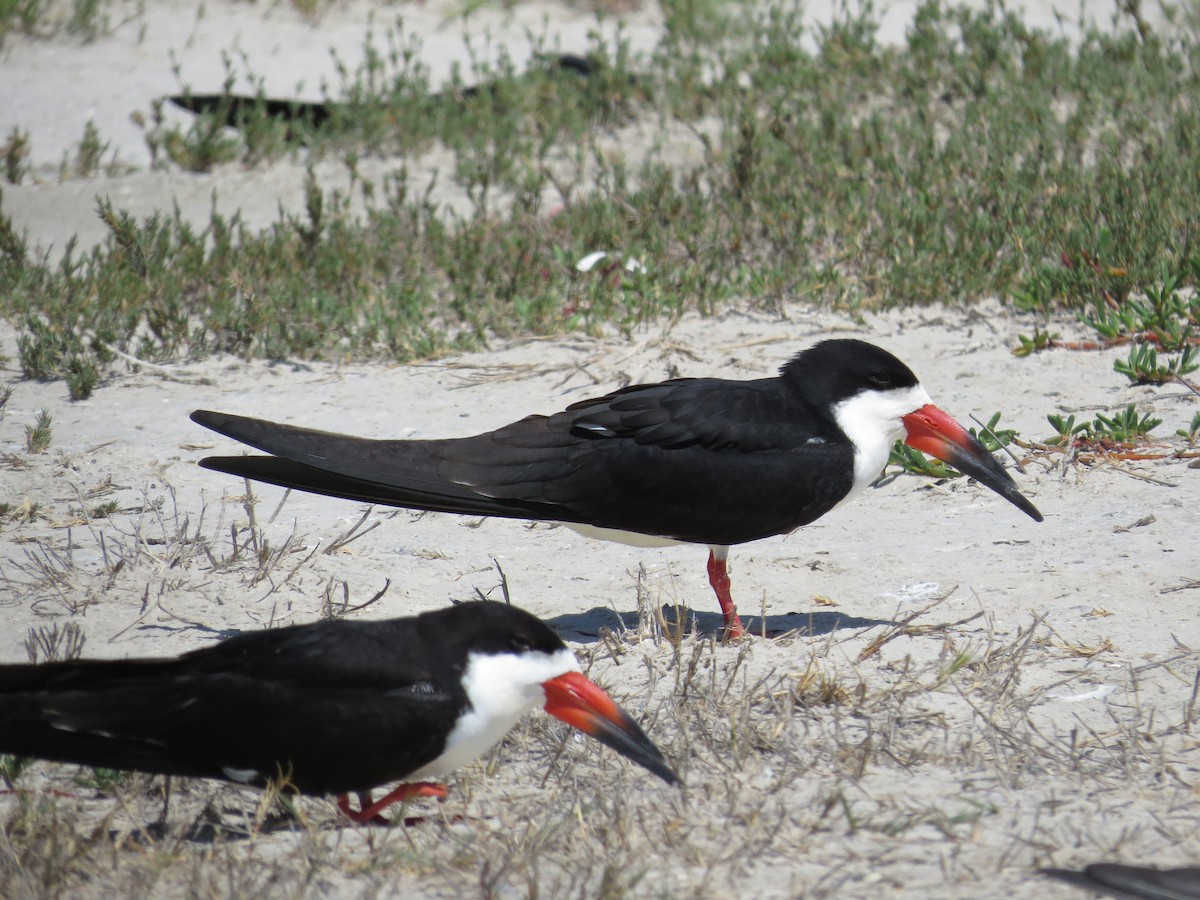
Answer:
<path fill-rule="evenodd" d="M 684 617 L 684 634 L 720 638 L 725 631 L 725 619 L 716 612 L 694 612 L 676 606 L 664 606 L 662 618 L 668 628 L 674 628 Z M 584 612 L 569 612 L 546 619 L 558 630 L 564 641 L 590 643 L 600 640 L 602 629 L 620 632 L 637 628 L 637 612 L 619 612 L 604 606 L 594 606 Z M 778 637 L 790 631 L 804 635 L 828 635 L 838 629 L 868 629 L 875 625 L 892 625 L 890 619 L 866 619 L 844 612 L 785 612 L 779 616 L 743 616 L 746 634 Z"/>

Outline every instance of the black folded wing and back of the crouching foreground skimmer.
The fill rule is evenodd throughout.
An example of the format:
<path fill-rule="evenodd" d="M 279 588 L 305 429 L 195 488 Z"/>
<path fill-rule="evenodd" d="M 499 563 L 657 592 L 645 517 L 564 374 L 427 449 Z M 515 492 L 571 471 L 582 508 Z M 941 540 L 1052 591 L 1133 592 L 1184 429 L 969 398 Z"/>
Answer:
<path fill-rule="evenodd" d="M 461 696 L 412 620 L 241 635 L 170 660 L 0 666 L 0 751 L 88 766 L 366 790 L 437 758 Z"/>

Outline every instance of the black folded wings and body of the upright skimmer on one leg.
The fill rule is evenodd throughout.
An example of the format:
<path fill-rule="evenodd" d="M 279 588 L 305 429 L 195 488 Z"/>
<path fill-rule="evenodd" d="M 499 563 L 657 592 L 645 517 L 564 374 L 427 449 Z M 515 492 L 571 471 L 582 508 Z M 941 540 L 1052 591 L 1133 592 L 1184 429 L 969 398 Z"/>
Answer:
<path fill-rule="evenodd" d="M 449 440 L 368 440 L 199 410 L 271 457 L 202 464 L 413 509 L 576 522 L 698 544 L 784 534 L 846 496 L 853 450 L 779 379 L 635 385 Z"/>

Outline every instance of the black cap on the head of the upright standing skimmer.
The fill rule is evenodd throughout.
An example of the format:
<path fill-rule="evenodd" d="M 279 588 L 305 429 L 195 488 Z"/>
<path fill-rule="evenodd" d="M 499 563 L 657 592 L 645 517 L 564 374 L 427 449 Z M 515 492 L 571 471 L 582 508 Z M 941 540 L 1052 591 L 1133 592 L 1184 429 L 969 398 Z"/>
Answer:
<path fill-rule="evenodd" d="M 834 404 L 863 391 L 913 388 L 917 376 L 890 353 L 865 341 L 822 341 L 793 356 L 780 370 L 788 384 L 817 407 Z"/>

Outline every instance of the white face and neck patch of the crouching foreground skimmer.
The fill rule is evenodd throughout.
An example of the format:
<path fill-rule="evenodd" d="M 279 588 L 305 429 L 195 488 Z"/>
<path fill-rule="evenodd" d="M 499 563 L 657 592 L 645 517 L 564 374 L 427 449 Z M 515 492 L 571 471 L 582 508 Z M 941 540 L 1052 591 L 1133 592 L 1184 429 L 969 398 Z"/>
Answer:
<path fill-rule="evenodd" d="M 498 744 L 526 713 L 545 706 L 544 682 L 578 671 L 580 661 L 565 647 L 554 653 L 468 654 L 463 689 L 470 708 L 458 718 L 446 737 L 442 756 L 406 780 L 448 775 L 478 760 Z"/>

